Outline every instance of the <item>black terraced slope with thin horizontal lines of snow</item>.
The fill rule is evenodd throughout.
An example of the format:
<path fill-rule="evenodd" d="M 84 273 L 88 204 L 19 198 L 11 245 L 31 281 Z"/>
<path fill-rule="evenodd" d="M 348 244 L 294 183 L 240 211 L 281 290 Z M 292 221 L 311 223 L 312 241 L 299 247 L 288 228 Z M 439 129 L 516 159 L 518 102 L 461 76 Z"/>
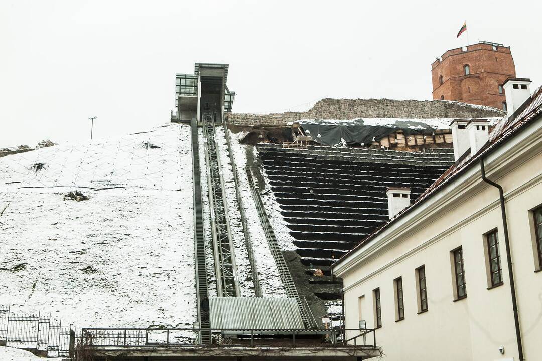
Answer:
<path fill-rule="evenodd" d="M 326 266 L 388 219 L 388 187 L 419 196 L 453 151 L 258 147 L 265 174 L 305 265 Z"/>

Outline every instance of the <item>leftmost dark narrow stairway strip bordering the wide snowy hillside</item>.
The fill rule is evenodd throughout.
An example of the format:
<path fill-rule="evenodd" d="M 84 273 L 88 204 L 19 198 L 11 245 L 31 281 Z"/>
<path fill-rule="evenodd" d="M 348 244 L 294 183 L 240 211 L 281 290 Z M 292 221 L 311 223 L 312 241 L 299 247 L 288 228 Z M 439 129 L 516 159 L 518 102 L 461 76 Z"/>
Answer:
<path fill-rule="evenodd" d="M 198 307 L 198 321 L 202 330 L 209 330 L 209 302 L 207 285 L 207 267 L 205 266 L 205 242 L 203 233 L 202 187 L 199 169 L 199 142 L 198 123 L 193 119 L 190 123 L 192 137 L 192 188 L 194 213 L 194 249 L 196 257 L 196 296 Z M 205 305 L 207 304 L 207 305 Z M 203 307 L 202 307 L 203 305 Z M 202 331 L 200 342 L 207 344 L 210 341 L 210 331 Z"/>

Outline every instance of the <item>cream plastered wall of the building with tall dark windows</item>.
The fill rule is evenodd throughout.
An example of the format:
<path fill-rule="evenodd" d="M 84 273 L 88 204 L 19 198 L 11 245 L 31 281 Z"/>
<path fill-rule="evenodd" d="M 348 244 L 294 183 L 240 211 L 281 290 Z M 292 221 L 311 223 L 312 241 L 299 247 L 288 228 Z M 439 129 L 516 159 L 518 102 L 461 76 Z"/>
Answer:
<path fill-rule="evenodd" d="M 535 273 L 529 209 L 542 204 L 542 155 L 498 178 L 505 189 L 508 227 L 527 360 L 542 355 L 542 272 Z M 532 153 L 531 153 L 532 155 Z M 475 166 L 476 167 L 476 166 Z M 486 164 L 486 167 L 487 164 Z M 479 169 L 479 166 L 478 166 Z M 513 166 L 501 169 L 509 172 Z M 357 299 L 364 295 L 362 317 L 374 326 L 372 290 L 380 287 L 382 328 L 377 344 L 386 360 L 518 360 L 498 189 L 473 180 L 469 192 L 443 200 L 440 212 L 423 226 L 405 232 L 346 274 L 346 327 L 358 323 Z M 504 285 L 488 290 L 483 234 L 498 228 Z M 454 302 L 450 251 L 463 247 L 467 298 Z M 428 311 L 417 314 L 415 268 L 425 265 Z M 403 278 L 405 318 L 395 320 L 393 280 Z M 505 347 L 500 355 L 499 346 Z"/>

